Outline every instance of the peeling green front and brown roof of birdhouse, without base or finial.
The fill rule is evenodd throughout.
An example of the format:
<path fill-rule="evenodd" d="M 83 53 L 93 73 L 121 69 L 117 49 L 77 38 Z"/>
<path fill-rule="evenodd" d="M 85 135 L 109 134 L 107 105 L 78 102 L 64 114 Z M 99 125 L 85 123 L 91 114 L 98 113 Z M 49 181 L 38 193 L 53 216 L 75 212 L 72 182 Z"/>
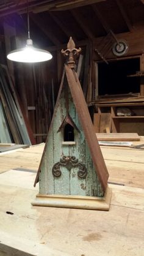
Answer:
<path fill-rule="evenodd" d="M 96 140 L 92 120 L 81 85 L 76 83 L 76 73 L 67 66 L 57 97 L 54 115 L 49 128 L 40 167 L 35 179 L 40 178 L 40 194 L 103 196 L 107 187 L 108 172 Z M 78 78 L 76 78 L 78 81 Z M 68 83 L 67 83 L 68 81 Z M 69 89 L 70 88 L 70 89 Z M 77 89 L 76 89 L 77 88 Z M 63 130 L 59 130 L 65 117 L 70 115 L 78 130 L 74 129 L 75 145 L 63 145 Z M 79 130 L 81 131 L 79 133 Z M 52 167 L 62 156 L 74 156 L 87 168 L 87 177 L 77 178 L 78 168 L 68 170 L 60 166 L 62 175 L 54 177 Z"/>

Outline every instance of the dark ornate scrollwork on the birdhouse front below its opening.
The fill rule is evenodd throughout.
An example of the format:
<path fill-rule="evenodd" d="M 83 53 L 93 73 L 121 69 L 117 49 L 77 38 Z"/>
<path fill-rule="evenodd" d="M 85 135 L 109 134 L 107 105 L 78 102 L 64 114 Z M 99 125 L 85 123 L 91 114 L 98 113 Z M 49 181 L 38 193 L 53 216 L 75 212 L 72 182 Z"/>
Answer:
<path fill-rule="evenodd" d="M 86 178 L 87 176 L 87 168 L 84 164 L 79 163 L 79 160 L 76 159 L 75 156 L 63 156 L 60 159 L 60 162 L 57 162 L 52 167 L 52 174 L 55 177 L 60 177 L 62 175 L 62 171 L 60 171 L 60 166 L 67 167 L 68 170 L 71 170 L 72 167 L 79 167 L 79 171 L 77 171 L 77 175 L 79 178 Z"/>

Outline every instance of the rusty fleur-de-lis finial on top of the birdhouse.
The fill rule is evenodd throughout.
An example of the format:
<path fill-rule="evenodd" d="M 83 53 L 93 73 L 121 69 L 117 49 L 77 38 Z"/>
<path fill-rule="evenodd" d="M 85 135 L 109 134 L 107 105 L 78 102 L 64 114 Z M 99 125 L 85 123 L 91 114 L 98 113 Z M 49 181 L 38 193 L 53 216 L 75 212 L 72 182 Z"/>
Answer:
<path fill-rule="evenodd" d="M 64 56 L 68 56 L 68 67 L 70 67 L 71 69 L 74 68 L 74 64 L 75 64 L 74 60 L 76 59 L 77 56 L 79 56 L 79 52 L 81 51 L 81 48 L 76 49 L 75 47 L 76 45 L 72 37 L 70 37 L 70 40 L 67 44 L 67 50 L 64 51 L 62 49 L 61 51 Z"/>

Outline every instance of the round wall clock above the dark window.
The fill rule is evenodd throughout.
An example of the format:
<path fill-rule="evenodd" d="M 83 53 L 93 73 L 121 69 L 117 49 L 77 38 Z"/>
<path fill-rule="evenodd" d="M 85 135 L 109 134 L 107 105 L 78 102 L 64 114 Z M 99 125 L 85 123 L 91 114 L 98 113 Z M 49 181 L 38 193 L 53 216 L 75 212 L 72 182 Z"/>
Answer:
<path fill-rule="evenodd" d="M 122 56 L 128 51 L 128 43 L 124 40 L 118 40 L 113 44 L 112 52 L 113 55 Z"/>

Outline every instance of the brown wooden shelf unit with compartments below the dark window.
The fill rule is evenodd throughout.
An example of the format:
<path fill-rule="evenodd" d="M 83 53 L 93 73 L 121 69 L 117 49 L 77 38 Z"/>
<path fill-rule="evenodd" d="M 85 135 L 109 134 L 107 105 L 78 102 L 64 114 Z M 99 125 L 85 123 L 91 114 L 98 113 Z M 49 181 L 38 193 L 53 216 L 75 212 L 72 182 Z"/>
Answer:
<path fill-rule="evenodd" d="M 125 102 L 126 104 L 126 102 Z M 121 104 L 121 107 L 124 103 Z M 123 132 L 136 132 L 139 135 L 144 135 L 144 104 L 131 103 L 129 102 L 129 110 L 125 111 L 121 108 L 121 112 L 118 110 L 120 107 L 119 103 L 117 105 L 107 104 L 97 105 L 98 113 L 95 114 L 95 130 L 96 132 L 106 132 L 109 129 L 112 133 L 123 133 Z M 128 105 L 126 106 L 128 107 Z M 118 114 L 121 116 L 117 116 Z M 131 113 L 132 116 L 126 116 Z M 125 115 L 122 115 L 125 114 Z"/>

